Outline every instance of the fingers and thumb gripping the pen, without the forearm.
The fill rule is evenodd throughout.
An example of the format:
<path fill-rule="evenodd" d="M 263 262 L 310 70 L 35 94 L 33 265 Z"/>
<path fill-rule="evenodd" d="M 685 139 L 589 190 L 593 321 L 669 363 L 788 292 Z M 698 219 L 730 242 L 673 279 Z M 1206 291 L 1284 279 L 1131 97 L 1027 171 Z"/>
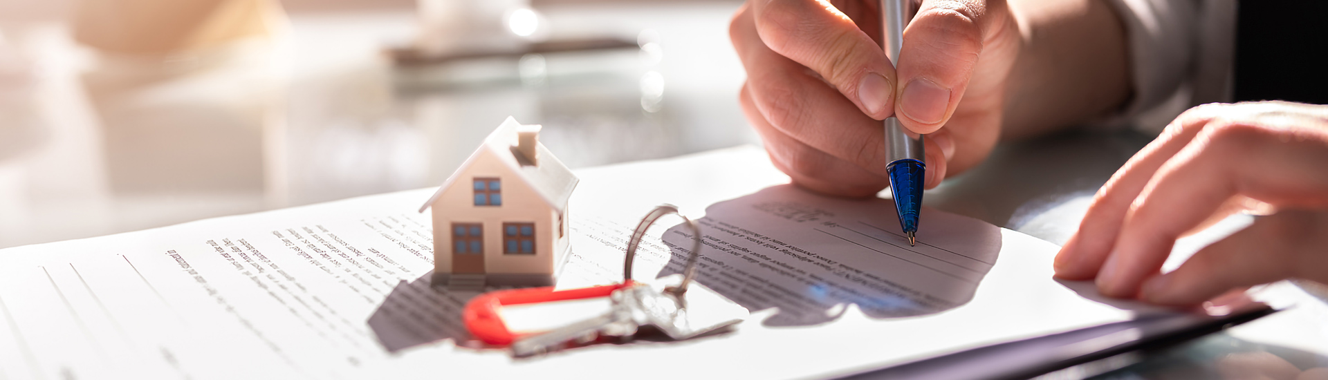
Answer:
<path fill-rule="evenodd" d="M 928 189 L 985 158 L 1020 48 L 1003 0 L 923 1 L 898 72 L 874 40 L 878 0 L 752 0 L 729 35 L 748 72 L 742 110 L 774 165 L 801 186 L 854 197 L 890 185 L 890 116 L 928 133 Z"/>

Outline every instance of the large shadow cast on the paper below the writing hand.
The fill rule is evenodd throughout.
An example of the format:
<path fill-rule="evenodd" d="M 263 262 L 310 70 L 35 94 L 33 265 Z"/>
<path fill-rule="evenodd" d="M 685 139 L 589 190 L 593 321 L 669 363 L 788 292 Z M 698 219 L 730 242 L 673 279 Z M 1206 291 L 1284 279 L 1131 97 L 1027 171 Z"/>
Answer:
<path fill-rule="evenodd" d="M 918 244 L 899 231 L 891 199 L 830 198 L 793 185 L 710 205 L 697 280 L 768 326 L 810 326 L 855 304 L 870 318 L 942 312 L 971 300 L 996 262 L 1000 229 L 924 209 Z M 664 233 L 677 274 L 693 244 L 683 225 Z"/>

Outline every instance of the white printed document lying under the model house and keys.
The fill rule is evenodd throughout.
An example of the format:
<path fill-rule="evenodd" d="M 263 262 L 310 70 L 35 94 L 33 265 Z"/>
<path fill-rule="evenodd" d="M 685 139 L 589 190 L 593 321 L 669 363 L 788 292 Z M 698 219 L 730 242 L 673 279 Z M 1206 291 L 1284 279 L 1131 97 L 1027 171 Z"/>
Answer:
<path fill-rule="evenodd" d="M 578 171 L 559 287 L 620 282 L 673 203 L 697 280 L 753 315 L 691 339 L 513 359 L 469 337 L 478 292 L 432 287 L 433 189 L 0 250 L 0 379 L 807 379 L 1133 319 L 1052 279 L 1054 244 L 887 199 L 788 185 L 756 147 Z M 681 271 L 661 219 L 633 276 Z"/>

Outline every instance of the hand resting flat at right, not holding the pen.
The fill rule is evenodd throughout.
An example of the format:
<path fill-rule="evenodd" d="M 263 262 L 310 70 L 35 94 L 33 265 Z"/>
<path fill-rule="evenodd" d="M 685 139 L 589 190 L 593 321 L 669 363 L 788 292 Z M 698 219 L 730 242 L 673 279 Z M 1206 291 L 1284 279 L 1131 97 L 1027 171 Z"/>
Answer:
<path fill-rule="evenodd" d="M 1175 239 L 1231 213 L 1276 214 L 1159 275 Z M 1108 296 L 1197 304 L 1286 278 L 1328 283 L 1328 106 L 1211 104 L 1181 114 L 1097 193 L 1056 275 Z"/>

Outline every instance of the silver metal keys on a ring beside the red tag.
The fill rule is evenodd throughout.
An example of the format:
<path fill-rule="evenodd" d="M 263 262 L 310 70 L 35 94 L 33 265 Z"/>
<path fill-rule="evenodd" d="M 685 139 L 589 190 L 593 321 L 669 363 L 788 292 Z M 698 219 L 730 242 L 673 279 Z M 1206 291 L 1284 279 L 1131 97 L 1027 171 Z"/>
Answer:
<path fill-rule="evenodd" d="M 645 230 L 656 219 L 667 214 L 677 214 L 677 207 L 665 205 L 656 207 L 641 219 L 632 233 L 627 246 L 624 280 L 631 286 L 610 295 L 612 307 L 604 315 L 563 328 L 519 339 L 511 344 L 513 356 L 525 357 L 547 353 L 566 347 L 586 344 L 602 336 L 631 340 L 639 327 L 653 326 L 675 340 L 695 337 L 710 331 L 733 326 L 748 318 L 745 307 L 729 300 L 713 290 L 692 283 L 696 276 L 696 260 L 701 250 L 701 231 L 696 222 L 683 217 L 692 229 L 692 254 L 681 275 L 663 278 L 660 283 L 676 283 L 661 287 L 632 282 L 632 258 Z M 681 217 L 681 214 L 679 214 Z"/>

